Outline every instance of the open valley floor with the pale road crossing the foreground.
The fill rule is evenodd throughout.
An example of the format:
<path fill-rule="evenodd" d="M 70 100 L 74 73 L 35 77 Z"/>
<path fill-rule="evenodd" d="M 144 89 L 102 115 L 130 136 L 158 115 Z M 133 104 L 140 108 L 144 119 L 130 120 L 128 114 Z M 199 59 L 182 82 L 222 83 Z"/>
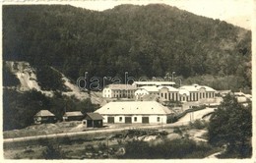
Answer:
<path fill-rule="evenodd" d="M 201 119 L 203 115 L 212 111 L 212 108 L 196 111 L 193 113 L 194 120 Z M 191 128 L 190 117 L 187 114 L 173 124 L 106 124 L 101 129 L 85 128 L 81 122 L 34 125 L 23 130 L 4 133 L 4 157 L 7 159 L 41 159 L 44 158 L 43 153 L 47 150 L 47 145 L 55 144 L 55 148 L 65 153 L 66 159 L 118 158 L 127 141 L 140 139 L 156 144 L 162 141 L 163 137 L 159 135 L 162 132 L 166 134 L 164 138 L 169 140 L 189 137 L 196 142 L 207 143 L 206 129 Z M 180 129 L 181 133 L 177 133 L 176 129 Z M 143 136 L 124 136 L 127 131 L 145 132 Z M 99 149 L 102 144 L 107 144 L 108 150 Z M 90 146 L 94 147 L 94 151 L 90 149 Z M 210 154 L 219 151 L 216 149 Z M 213 157 L 215 156 L 210 158 Z"/>

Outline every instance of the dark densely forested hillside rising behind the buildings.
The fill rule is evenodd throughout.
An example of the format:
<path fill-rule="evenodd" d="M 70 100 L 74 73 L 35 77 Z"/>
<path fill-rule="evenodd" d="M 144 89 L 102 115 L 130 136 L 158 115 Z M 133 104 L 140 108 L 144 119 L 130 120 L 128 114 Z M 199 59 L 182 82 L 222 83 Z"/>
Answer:
<path fill-rule="evenodd" d="M 251 31 L 166 5 L 3 6 L 3 59 L 52 66 L 74 81 L 85 72 L 150 79 L 176 72 L 188 82 L 213 79 L 215 88 L 251 87 Z"/>

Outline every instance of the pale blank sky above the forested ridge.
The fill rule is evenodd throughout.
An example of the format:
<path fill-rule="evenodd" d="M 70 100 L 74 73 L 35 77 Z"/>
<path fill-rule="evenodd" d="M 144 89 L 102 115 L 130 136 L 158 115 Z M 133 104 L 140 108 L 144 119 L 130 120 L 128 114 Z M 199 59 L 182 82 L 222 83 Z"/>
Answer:
<path fill-rule="evenodd" d="M 256 0 L 88 0 L 69 4 L 90 10 L 103 11 L 121 4 L 147 5 L 164 3 L 196 15 L 220 19 L 235 26 L 251 29 L 253 5 Z"/>

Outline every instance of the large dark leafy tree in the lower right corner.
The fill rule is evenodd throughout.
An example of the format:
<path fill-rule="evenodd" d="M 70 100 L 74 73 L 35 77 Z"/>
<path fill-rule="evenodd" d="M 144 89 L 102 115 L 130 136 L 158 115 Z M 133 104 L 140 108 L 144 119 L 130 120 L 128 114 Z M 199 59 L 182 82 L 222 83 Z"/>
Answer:
<path fill-rule="evenodd" d="M 209 124 L 209 142 L 226 145 L 224 157 L 251 156 L 252 115 L 251 104 L 242 106 L 230 94 L 213 113 Z"/>

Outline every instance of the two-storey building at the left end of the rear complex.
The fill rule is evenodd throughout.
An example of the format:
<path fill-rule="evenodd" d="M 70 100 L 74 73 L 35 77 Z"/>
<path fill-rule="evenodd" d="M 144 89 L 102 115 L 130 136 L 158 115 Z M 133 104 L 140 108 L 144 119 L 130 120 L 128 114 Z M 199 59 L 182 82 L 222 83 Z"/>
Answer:
<path fill-rule="evenodd" d="M 105 98 L 133 98 L 136 87 L 131 84 L 109 84 L 103 88 Z"/>

